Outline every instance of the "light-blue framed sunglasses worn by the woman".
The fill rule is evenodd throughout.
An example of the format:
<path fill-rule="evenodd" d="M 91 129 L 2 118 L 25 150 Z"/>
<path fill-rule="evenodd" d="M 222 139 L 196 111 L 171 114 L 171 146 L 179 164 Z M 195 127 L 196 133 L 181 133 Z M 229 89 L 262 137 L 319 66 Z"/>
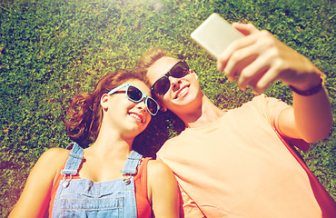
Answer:
<path fill-rule="evenodd" d="M 119 89 L 124 87 L 126 87 L 126 91 L 118 91 Z M 126 94 L 127 98 L 134 103 L 139 103 L 143 101 L 144 98 L 144 104 L 146 105 L 149 114 L 156 115 L 160 109 L 159 104 L 157 104 L 157 102 L 153 98 L 144 94 L 140 89 L 135 87 L 133 84 L 119 85 L 118 87 L 111 90 L 108 94 L 116 94 L 116 93 Z"/>

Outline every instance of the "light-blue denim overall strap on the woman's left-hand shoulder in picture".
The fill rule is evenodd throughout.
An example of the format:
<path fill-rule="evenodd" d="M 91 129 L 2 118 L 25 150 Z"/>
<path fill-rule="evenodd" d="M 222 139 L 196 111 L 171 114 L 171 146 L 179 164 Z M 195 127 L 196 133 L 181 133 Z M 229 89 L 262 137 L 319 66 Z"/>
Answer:
<path fill-rule="evenodd" d="M 79 144 L 71 143 L 69 144 L 66 149 L 73 149 L 70 154 L 69 158 L 65 163 L 64 170 L 61 174 L 70 174 L 75 175 L 78 171 L 79 165 L 82 163 L 84 149 L 79 146 Z"/>

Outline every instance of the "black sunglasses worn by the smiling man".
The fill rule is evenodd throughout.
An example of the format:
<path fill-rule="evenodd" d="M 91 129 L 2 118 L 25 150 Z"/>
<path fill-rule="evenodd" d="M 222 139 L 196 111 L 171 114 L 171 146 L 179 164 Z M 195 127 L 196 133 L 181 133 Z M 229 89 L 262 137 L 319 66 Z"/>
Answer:
<path fill-rule="evenodd" d="M 169 76 L 173 76 L 174 78 L 182 78 L 184 75 L 188 74 L 188 72 L 188 64 L 186 64 L 184 61 L 180 61 L 174 64 L 167 74 L 164 74 L 163 77 L 156 80 L 151 90 L 160 95 L 166 94 L 171 87 Z"/>

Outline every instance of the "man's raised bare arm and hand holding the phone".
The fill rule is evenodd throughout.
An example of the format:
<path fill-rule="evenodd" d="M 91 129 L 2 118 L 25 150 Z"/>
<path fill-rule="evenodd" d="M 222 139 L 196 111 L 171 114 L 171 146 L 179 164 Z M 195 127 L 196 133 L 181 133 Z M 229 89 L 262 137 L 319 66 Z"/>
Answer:
<path fill-rule="evenodd" d="M 233 24 L 246 35 L 232 43 L 219 57 L 217 68 L 242 90 L 250 86 L 261 94 L 274 81 L 299 91 L 321 83 L 324 74 L 308 58 L 282 44 L 268 31 L 248 24 Z M 279 117 L 282 134 L 308 143 L 328 136 L 332 124 L 331 104 L 324 88 L 309 96 L 293 92 L 293 108 Z"/>

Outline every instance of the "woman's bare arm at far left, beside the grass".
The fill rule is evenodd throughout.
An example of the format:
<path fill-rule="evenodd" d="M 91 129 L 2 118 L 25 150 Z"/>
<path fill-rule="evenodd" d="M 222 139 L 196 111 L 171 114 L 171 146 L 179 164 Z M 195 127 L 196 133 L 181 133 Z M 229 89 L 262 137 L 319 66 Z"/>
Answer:
<path fill-rule="evenodd" d="M 39 158 L 29 174 L 25 188 L 18 202 L 15 204 L 10 217 L 43 217 L 50 201 L 50 193 L 57 168 L 61 167 L 68 154 L 61 148 L 46 151 Z M 59 155 L 59 154 L 65 154 Z"/>

